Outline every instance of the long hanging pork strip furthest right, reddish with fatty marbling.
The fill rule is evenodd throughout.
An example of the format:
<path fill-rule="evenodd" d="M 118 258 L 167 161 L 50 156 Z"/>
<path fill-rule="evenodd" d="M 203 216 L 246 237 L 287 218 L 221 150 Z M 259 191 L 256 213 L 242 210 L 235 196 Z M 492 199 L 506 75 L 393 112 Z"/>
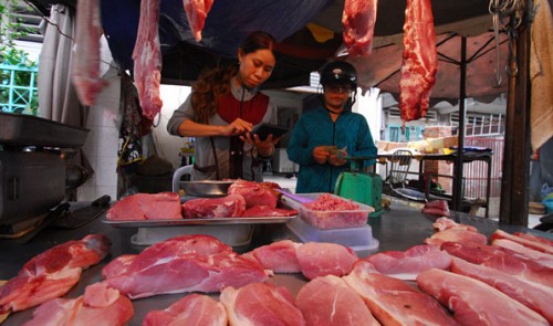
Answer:
<path fill-rule="evenodd" d="M 399 109 L 404 123 L 426 116 L 438 72 L 430 0 L 407 0 Z"/>

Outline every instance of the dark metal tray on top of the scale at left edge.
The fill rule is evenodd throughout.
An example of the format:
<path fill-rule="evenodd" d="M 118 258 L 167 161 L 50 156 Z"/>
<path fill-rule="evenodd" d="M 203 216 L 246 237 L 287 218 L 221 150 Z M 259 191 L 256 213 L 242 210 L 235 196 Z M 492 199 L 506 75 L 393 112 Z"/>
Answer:
<path fill-rule="evenodd" d="M 14 113 L 0 113 L 0 144 L 13 146 L 81 147 L 88 129 Z"/>

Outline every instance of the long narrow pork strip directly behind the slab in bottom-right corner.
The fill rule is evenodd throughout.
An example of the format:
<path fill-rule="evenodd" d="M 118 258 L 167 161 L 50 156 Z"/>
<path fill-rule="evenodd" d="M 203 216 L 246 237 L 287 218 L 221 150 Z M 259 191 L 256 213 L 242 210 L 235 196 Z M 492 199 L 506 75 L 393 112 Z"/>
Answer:
<path fill-rule="evenodd" d="M 553 324 L 553 288 L 517 278 L 508 273 L 500 272 L 483 265 L 471 264 L 461 259 L 453 259 L 451 272 L 472 277 L 495 287 L 509 297 L 514 298 L 534 312 L 544 316 Z"/>

